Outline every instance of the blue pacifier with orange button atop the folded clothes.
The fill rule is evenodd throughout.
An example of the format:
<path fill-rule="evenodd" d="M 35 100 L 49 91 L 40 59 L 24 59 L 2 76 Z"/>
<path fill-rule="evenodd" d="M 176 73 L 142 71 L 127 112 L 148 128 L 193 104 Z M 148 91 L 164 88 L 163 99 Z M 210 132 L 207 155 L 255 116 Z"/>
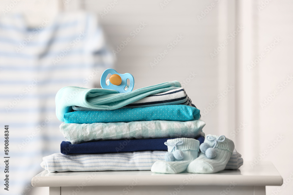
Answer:
<path fill-rule="evenodd" d="M 106 80 L 108 74 L 110 78 Z M 127 84 L 129 79 L 130 84 Z M 130 73 L 119 74 L 112 68 L 106 69 L 101 76 L 101 87 L 103 89 L 113 89 L 119 93 L 131 92 L 134 87 L 134 77 Z"/>

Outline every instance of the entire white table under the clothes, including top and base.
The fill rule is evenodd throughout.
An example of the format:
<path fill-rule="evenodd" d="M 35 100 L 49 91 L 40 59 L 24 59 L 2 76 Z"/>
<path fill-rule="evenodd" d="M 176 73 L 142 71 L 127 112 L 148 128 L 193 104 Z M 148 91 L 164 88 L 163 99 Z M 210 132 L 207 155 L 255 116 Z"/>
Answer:
<path fill-rule="evenodd" d="M 50 195 L 217 194 L 264 195 L 265 186 L 280 186 L 283 179 L 270 162 L 214 174 L 158 174 L 151 171 L 54 172 L 42 171 L 34 187 L 50 187 Z"/>

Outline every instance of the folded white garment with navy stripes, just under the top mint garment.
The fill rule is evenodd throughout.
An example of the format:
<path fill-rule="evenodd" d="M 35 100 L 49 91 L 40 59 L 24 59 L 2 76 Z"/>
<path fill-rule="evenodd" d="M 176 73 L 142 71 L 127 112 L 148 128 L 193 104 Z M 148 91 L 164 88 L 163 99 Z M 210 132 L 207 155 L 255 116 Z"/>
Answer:
<path fill-rule="evenodd" d="M 127 104 L 126 106 L 124 106 L 124 108 L 178 105 L 178 104 L 193 106 L 196 108 L 196 106 L 193 103 L 191 103 L 191 99 L 187 96 L 183 87 L 169 90 L 167 92 L 147 96 L 133 103 Z M 80 106 L 72 106 L 72 109 L 75 111 L 100 110 L 100 109 L 86 108 L 86 107 L 80 107 Z"/>

